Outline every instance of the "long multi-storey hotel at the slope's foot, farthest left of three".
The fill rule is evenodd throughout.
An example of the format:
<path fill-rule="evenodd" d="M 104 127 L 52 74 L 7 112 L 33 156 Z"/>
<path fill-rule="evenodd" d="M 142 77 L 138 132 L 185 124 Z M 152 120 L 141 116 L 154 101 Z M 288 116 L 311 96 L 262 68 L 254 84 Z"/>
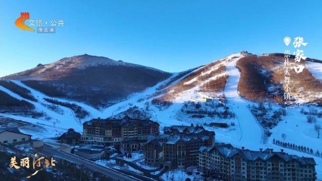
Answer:
<path fill-rule="evenodd" d="M 123 140 L 147 140 L 159 135 L 159 124 L 149 119 L 92 119 L 83 124 L 82 141 L 90 143 L 119 142 Z"/>

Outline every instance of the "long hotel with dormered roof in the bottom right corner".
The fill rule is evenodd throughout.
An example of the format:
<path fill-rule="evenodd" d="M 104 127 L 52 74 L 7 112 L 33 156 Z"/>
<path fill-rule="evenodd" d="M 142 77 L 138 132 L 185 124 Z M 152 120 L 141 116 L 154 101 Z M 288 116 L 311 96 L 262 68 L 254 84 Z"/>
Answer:
<path fill-rule="evenodd" d="M 199 169 L 232 181 L 315 181 L 315 161 L 313 158 L 299 157 L 273 149 L 236 149 L 230 144 L 201 147 L 199 149 Z"/>

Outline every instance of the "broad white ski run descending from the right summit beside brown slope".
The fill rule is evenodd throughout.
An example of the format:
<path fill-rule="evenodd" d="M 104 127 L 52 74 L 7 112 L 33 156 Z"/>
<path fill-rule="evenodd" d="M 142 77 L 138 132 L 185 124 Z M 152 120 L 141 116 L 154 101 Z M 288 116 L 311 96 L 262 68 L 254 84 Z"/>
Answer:
<path fill-rule="evenodd" d="M 240 98 L 237 93 L 240 73 L 235 67 L 235 63 L 239 59 L 240 58 L 235 58 L 233 61 L 226 64 L 227 71 L 229 72 L 229 79 L 224 94 L 238 119 L 239 127 L 241 129 L 240 142 L 243 143 L 241 146 L 245 146 L 248 149 L 252 149 L 252 147 L 255 146 L 255 150 L 257 150 L 258 144 L 263 143 L 263 131 L 257 120 L 253 117 L 253 114 L 247 108 L 251 102 Z"/>

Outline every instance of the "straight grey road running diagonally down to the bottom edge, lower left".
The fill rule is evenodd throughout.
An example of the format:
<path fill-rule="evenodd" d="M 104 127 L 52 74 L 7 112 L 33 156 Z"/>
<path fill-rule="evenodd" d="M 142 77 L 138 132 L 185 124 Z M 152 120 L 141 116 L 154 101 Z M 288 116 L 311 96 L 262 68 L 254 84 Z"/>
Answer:
<path fill-rule="evenodd" d="M 67 153 L 64 153 L 62 151 L 59 151 L 59 150 L 56 150 L 56 149 L 52 149 L 50 147 L 47 147 L 44 145 L 44 152 L 52 155 L 53 157 L 56 155 L 56 156 L 59 156 L 59 157 L 62 157 L 66 160 L 69 160 L 69 161 L 72 161 L 76 164 L 79 164 L 79 165 L 84 165 L 86 167 L 88 167 L 89 169 L 93 170 L 93 171 L 97 171 L 97 172 L 100 172 L 106 176 L 109 176 L 113 179 L 116 179 L 116 180 L 121 180 L 121 181 L 129 181 L 129 180 L 136 180 L 136 179 L 133 179 L 133 178 L 129 178 L 127 176 L 124 176 L 122 174 L 118 174 L 116 172 L 113 172 L 113 171 L 110 171 L 109 169 L 104 169 L 103 167 L 99 166 L 99 165 L 96 165 L 90 161 L 87 161 L 87 160 L 84 160 L 84 159 L 81 159 L 81 158 L 78 158 L 78 157 L 75 157 L 75 156 L 71 156 Z"/>

